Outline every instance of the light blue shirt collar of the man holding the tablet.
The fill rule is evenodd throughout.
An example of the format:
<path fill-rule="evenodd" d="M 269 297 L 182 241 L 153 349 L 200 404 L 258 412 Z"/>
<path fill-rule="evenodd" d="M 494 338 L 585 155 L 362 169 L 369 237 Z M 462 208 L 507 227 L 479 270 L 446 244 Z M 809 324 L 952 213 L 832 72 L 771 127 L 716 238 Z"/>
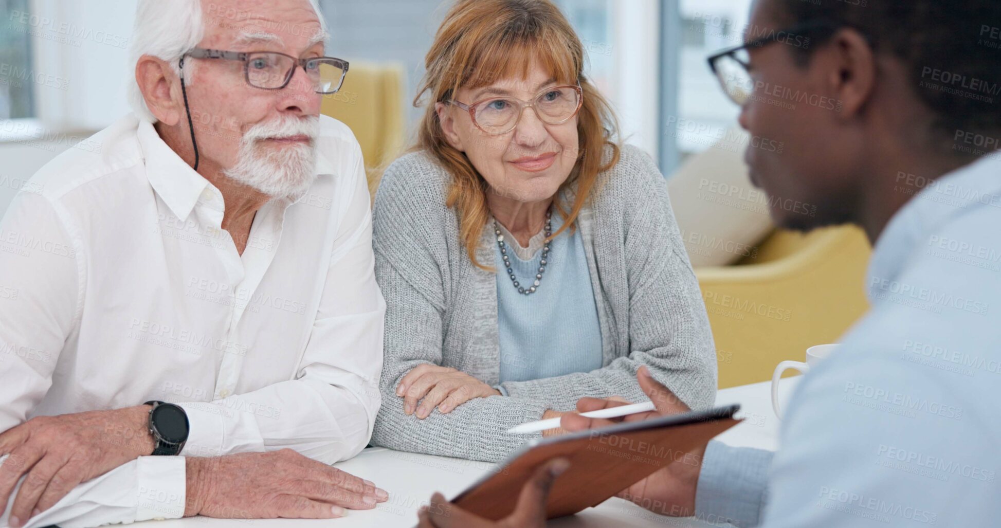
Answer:
<path fill-rule="evenodd" d="M 972 208 L 1001 208 L 999 174 L 1001 160 L 985 156 L 931 182 L 911 175 L 898 178 L 898 188 L 920 192 L 890 218 L 876 240 L 868 271 L 870 297 L 881 292 L 872 285 L 900 276 L 910 255 L 921 250 L 935 229 Z"/>

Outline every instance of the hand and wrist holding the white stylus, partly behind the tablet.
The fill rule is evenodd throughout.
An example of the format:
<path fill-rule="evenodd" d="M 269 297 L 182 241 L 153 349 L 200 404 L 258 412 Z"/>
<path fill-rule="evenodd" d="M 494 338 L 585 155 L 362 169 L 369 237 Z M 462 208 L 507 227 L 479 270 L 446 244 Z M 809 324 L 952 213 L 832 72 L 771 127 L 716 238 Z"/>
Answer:
<path fill-rule="evenodd" d="M 650 376 L 650 371 L 646 367 L 640 368 L 637 378 L 643 392 L 654 402 L 657 411 L 638 413 L 610 420 L 585 418 L 580 415 L 570 414 L 563 417 L 561 426 L 567 431 L 584 431 L 607 427 L 621 422 L 650 420 L 661 416 L 670 416 L 691 411 L 671 390 L 657 383 Z M 610 400 L 582 398 L 577 403 L 577 409 L 578 412 L 586 413 L 599 409 L 619 407 L 621 405 L 626 404 Z M 617 497 L 626 499 L 660 515 L 670 515 L 673 517 L 695 515 L 696 487 L 699 483 L 699 474 L 702 471 L 702 458 L 705 453 L 706 445 L 703 444 L 692 452 L 685 454 L 680 460 L 621 491 Z"/>

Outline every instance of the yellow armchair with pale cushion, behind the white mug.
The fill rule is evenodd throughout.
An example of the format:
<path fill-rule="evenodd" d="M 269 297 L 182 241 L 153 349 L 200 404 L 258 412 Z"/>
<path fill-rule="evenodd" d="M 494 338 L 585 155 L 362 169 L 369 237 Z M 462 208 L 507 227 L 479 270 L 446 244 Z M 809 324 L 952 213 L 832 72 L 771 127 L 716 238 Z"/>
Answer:
<path fill-rule="evenodd" d="M 770 380 L 779 362 L 837 343 L 868 310 L 870 246 L 858 227 L 777 229 L 758 247 L 753 260 L 696 270 L 721 389 Z"/>

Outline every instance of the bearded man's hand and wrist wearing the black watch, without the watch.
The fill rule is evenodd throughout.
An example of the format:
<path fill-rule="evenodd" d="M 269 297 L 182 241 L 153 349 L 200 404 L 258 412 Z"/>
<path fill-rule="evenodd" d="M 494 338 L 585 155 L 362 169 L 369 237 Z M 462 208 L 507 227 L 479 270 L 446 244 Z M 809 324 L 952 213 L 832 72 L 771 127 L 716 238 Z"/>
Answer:
<path fill-rule="evenodd" d="M 66 496 L 77 484 L 153 453 L 150 407 L 40 416 L 0 434 L 0 505 L 22 476 L 10 510 L 10 525 L 21 524 Z"/>

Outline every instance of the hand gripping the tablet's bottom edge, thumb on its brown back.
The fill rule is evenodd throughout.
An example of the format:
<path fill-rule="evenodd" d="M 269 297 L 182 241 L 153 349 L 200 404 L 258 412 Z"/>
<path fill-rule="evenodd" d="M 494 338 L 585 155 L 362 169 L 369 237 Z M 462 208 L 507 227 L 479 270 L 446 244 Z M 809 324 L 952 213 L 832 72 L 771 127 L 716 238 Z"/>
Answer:
<path fill-rule="evenodd" d="M 546 502 L 550 489 L 570 462 L 556 459 L 540 466 L 522 488 L 515 512 L 499 521 L 488 521 L 463 511 L 446 501 L 440 493 L 431 496 L 429 505 L 417 513 L 418 528 L 542 528 L 546 526 Z"/>

